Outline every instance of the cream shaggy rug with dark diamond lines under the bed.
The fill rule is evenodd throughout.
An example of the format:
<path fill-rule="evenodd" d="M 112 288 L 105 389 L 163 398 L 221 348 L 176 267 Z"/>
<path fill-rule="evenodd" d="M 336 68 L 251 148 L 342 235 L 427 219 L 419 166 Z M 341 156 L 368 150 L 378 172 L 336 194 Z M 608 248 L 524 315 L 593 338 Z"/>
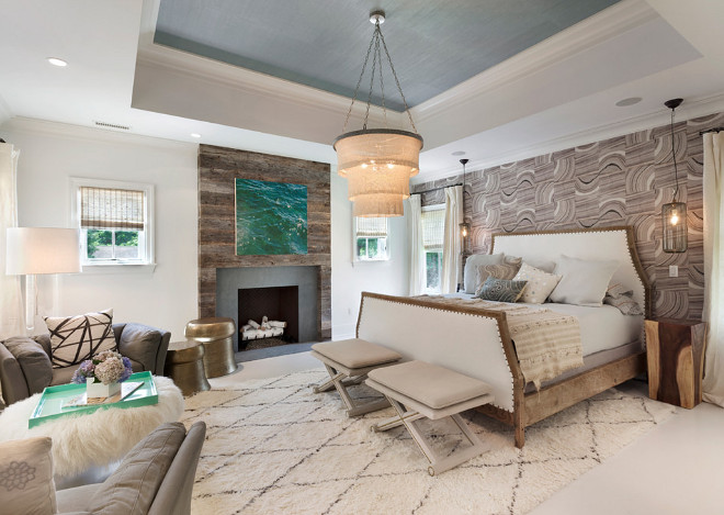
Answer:
<path fill-rule="evenodd" d="M 407 432 L 370 430 L 392 408 L 349 418 L 335 391 L 312 392 L 326 377 L 295 372 L 186 399 L 184 424 L 208 426 L 192 513 L 522 514 L 675 413 L 611 389 L 528 428 L 523 449 L 511 428 L 466 413 L 491 450 L 432 478 Z M 446 451 L 466 445 L 452 423 L 427 428 Z"/>

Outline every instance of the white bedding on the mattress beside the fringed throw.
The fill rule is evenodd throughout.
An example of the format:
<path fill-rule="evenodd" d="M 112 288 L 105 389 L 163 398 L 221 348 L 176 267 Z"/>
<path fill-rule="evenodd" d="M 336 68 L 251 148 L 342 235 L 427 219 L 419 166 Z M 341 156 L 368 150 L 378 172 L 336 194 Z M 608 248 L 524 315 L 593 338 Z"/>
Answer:
<path fill-rule="evenodd" d="M 451 293 L 445 296 L 459 299 L 473 299 L 467 293 Z M 573 315 L 578 318 L 580 325 L 580 340 L 584 358 L 601 350 L 613 349 L 641 337 L 644 326 L 643 316 L 624 315 L 616 307 L 603 304 L 600 307 L 589 307 L 573 304 L 524 304 L 532 309 L 546 309 Z"/>

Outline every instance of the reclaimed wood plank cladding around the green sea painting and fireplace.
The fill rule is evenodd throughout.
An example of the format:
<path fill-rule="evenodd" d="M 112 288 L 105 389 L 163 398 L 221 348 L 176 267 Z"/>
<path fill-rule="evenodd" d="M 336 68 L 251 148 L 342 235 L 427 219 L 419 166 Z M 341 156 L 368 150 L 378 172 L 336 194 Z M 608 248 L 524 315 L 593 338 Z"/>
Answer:
<path fill-rule="evenodd" d="M 235 178 L 307 187 L 307 254 L 237 256 Z M 317 327 L 331 337 L 330 168 L 328 164 L 233 148 L 199 147 L 199 316 L 216 316 L 216 270 L 319 267 Z"/>

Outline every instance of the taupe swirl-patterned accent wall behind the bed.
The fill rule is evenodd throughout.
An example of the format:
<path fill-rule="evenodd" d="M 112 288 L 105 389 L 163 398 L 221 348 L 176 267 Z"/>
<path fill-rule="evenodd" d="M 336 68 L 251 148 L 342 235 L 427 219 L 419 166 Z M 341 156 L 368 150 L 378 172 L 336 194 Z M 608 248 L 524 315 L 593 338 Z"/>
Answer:
<path fill-rule="evenodd" d="M 687 202 L 689 249 L 661 250 L 661 205 L 674 194 L 670 126 L 627 134 L 484 170 L 468 171 L 465 219 L 471 250 L 487 254 L 490 235 L 632 225 L 654 288 L 654 315 L 701 318 L 703 309 L 703 142 L 700 131 L 724 125 L 724 113 L 674 126 L 679 199 Z M 462 182 L 462 175 L 416 184 L 415 191 Z M 443 203 L 438 190 L 422 205 Z M 669 278 L 669 265 L 679 277 Z"/>

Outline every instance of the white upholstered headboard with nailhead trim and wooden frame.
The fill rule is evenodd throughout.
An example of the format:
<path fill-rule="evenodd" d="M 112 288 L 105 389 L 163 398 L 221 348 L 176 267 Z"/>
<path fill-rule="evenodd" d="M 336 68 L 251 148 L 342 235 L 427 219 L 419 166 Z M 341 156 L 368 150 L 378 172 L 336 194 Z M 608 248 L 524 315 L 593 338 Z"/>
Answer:
<path fill-rule="evenodd" d="M 619 227 L 498 233 L 490 254 L 505 253 L 531 260 L 557 261 L 562 254 L 579 259 L 616 259 L 621 266 L 612 281 L 633 290 L 634 299 L 652 315 L 651 286 L 638 260 L 630 225 Z"/>

